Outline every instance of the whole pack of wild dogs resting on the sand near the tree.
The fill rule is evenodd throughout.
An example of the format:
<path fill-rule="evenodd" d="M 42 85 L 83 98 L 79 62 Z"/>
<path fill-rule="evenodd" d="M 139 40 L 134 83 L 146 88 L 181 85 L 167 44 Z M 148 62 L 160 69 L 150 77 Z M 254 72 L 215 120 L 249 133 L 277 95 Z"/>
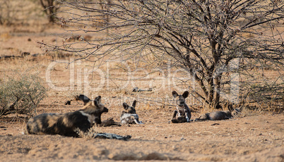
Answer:
<path fill-rule="evenodd" d="M 189 106 L 185 104 L 185 99 L 189 96 L 189 92 L 184 92 L 182 95 L 173 91 L 172 96 L 177 98 L 177 110 L 174 111 L 172 116 L 172 123 L 188 123 L 192 120 L 191 111 Z M 88 99 L 87 96 L 76 96 L 76 100 L 84 102 L 83 108 L 78 111 L 70 113 L 42 113 L 38 116 L 30 118 L 27 123 L 27 134 L 35 135 L 64 135 L 69 137 L 79 137 L 78 131 L 87 133 L 93 125 L 101 125 L 102 113 L 107 113 L 108 109 L 102 104 L 101 96 L 97 96 L 95 100 Z M 125 111 L 122 111 L 120 116 L 121 124 L 141 124 L 136 114 L 135 106 L 136 101 L 132 106 L 123 103 Z M 235 109 L 234 111 L 238 111 Z M 230 111 L 215 111 L 212 113 L 206 113 L 196 120 L 225 120 L 232 118 Z M 122 139 L 127 140 L 131 136 L 119 136 L 110 133 L 93 133 L 93 138 L 107 138 L 107 139 Z"/>

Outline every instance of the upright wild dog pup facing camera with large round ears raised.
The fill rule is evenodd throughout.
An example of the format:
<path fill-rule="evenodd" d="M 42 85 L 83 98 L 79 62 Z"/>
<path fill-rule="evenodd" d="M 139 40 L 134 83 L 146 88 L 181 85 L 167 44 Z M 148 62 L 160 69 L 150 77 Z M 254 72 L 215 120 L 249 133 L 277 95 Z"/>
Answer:
<path fill-rule="evenodd" d="M 177 92 L 173 91 L 172 96 L 177 98 L 177 110 L 174 111 L 174 115 L 172 116 L 172 123 L 188 123 L 191 118 L 191 112 L 189 110 L 189 106 L 185 104 L 185 99 L 189 96 L 189 92 L 185 91 L 182 95 L 177 94 Z"/>

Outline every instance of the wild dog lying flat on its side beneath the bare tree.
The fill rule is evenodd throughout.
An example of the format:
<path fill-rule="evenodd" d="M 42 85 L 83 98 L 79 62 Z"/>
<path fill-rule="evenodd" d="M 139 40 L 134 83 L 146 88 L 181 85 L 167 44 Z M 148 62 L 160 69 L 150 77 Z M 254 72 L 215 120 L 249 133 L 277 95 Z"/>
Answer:
<path fill-rule="evenodd" d="M 211 113 L 205 113 L 199 118 L 196 118 L 197 120 L 226 120 L 232 118 L 232 113 L 239 113 L 239 109 L 235 108 L 232 112 L 231 111 L 214 111 Z"/>

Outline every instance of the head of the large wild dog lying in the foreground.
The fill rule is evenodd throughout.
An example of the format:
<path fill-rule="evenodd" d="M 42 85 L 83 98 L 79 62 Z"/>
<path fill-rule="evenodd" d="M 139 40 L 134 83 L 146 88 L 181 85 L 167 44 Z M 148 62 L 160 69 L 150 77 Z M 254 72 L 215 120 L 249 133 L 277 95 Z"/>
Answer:
<path fill-rule="evenodd" d="M 107 109 L 104 104 L 102 104 L 101 96 L 97 96 L 93 101 L 88 101 L 88 103 L 86 103 L 82 109 L 84 113 L 95 116 L 96 124 L 101 124 L 102 120 L 100 116 L 102 115 L 102 113 L 107 113 L 109 111 L 109 109 Z"/>

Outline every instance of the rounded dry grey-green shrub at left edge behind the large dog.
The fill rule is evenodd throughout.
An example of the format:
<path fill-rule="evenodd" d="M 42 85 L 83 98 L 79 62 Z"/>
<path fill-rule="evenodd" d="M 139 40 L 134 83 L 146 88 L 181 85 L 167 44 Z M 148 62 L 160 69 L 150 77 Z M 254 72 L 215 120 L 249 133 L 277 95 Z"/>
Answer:
<path fill-rule="evenodd" d="M 0 117 L 11 113 L 32 116 L 47 95 L 37 74 L 15 72 L 0 80 Z"/>

